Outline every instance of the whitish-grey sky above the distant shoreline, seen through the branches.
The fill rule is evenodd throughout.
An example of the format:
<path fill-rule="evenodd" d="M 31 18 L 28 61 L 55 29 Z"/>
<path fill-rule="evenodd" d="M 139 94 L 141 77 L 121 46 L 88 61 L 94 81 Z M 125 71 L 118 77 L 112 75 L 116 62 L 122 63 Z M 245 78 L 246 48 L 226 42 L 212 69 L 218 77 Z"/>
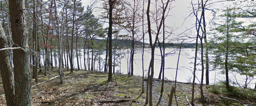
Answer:
<path fill-rule="evenodd" d="M 84 6 L 87 6 L 87 5 L 91 5 L 91 3 L 93 3 L 94 1 L 95 0 L 82 0 L 81 2 L 83 3 Z M 198 0 L 193 0 L 193 3 L 197 3 L 197 1 Z M 221 1 L 221 0 L 209 0 L 208 3 L 212 3 L 212 2 L 216 2 L 216 1 Z M 93 14 L 95 16 L 98 16 L 102 12 L 102 10 L 99 8 L 99 7 L 101 7 L 101 2 L 102 2 L 102 0 L 97 0 L 94 5 Z M 154 10 L 155 9 L 155 7 L 154 7 L 155 0 L 151 0 L 151 2 L 152 3 L 151 3 L 150 10 Z M 217 11 L 217 8 L 222 8 L 223 6 L 232 4 L 232 3 L 233 3 L 233 1 L 217 2 L 212 5 L 206 6 L 206 8 L 213 9 L 213 10 Z M 169 5 L 170 5 L 170 3 L 169 3 Z M 145 3 L 145 9 L 146 9 L 146 7 L 147 7 L 147 3 Z M 195 21 L 196 18 L 195 18 L 195 16 L 190 15 L 191 10 L 192 10 L 191 0 L 172 1 L 171 7 L 172 7 L 172 9 L 168 13 L 168 16 L 165 20 L 165 24 L 166 24 L 166 26 L 172 27 L 173 29 L 176 29 L 176 30 L 169 37 L 169 39 L 179 38 L 178 36 L 184 36 L 185 34 L 188 36 L 196 35 L 196 29 L 192 28 L 194 26 L 194 23 L 196 22 Z M 216 13 L 218 15 L 221 12 L 219 11 Z M 206 30 L 209 30 L 209 27 L 210 27 L 209 22 L 213 17 L 212 14 L 213 13 L 210 10 L 205 11 L 206 23 L 207 23 Z M 145 20 L 145 23 L 147 23 L 146 16 L 145 16 L 144 20 Z M 105 25 L 105 27 L 107 27 L 107 25 Z M 155 28 L 154 24 L 152 24 L 151 28 L 152 29 Z M 190 28 L 192 28 L 192 29 L 190 29 Z M 190 29 L 190 30 L 187 30 L 187 29 Z M 142 30 L 142 27 L 140 28 L 140 31 L 141 30 Z M 127 31 L 121 30 L 120 34 L 121 35 L 127 34 Z M 146 43 L 149 43 L 148 34 L 146 34 L 145 38 L 147 39 Z M 196 42 L 195 38 L 188 38 L 188 37 L 183 37 L 183 38 L 187 39 L 187 40 L 185 40 L 185 42 L 192 42 L 192 43 Z M 169 40 L 169 41 L 171 41 L 171 40 Z M 178 43 L 178 42 L 181 42 L 181 40 L 178 42 L 177 41 L 171 41 L 171 42 Z"/>

